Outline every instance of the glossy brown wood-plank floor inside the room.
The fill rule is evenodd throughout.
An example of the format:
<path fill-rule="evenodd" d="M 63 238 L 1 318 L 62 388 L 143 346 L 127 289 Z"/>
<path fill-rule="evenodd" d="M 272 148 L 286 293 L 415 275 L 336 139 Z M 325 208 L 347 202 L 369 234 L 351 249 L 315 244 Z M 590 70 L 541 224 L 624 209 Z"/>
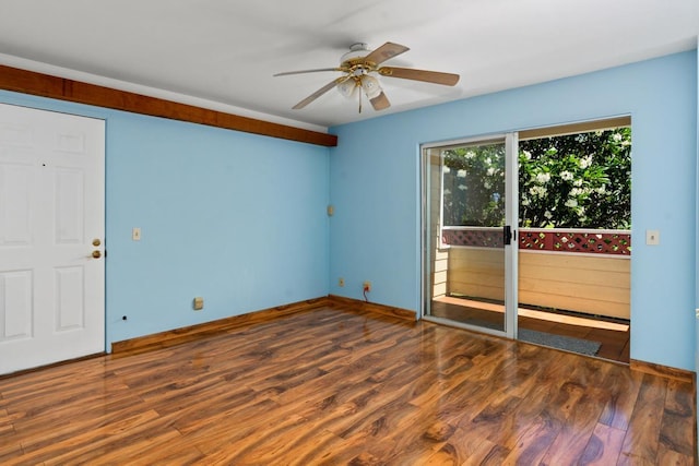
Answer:
<path fill-rule="evenodd" d="M 0 464 L 694 464 L 690 383 L 324 307 L 0 379 Z"/>

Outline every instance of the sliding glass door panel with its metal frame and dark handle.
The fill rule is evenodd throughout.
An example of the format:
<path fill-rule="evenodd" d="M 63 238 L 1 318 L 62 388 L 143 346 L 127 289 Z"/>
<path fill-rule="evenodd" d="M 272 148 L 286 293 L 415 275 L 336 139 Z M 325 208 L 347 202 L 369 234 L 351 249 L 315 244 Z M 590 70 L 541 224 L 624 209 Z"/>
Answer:
<path fill-rule="evenodd" d="M 516 337 L 517 135 L 423 146 L 423 316 Z"/>

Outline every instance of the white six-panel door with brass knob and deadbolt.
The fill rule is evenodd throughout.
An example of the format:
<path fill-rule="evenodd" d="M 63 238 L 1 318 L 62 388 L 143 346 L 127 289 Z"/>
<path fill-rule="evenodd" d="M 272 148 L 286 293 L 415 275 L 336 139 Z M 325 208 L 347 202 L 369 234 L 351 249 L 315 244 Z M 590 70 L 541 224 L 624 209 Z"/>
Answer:
<path fill-rule="evenodd" d="M 0 104 L 0 373 L 104 351 L 104 179 L 103 120 Z"/>

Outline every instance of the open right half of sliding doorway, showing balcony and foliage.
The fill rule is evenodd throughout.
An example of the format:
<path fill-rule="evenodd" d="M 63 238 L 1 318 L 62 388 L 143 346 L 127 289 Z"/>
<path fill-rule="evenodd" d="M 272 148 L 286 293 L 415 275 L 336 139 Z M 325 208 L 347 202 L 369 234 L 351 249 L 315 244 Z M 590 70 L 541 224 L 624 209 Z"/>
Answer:
<path fill-rule="evenodd" d="M 628 362 L 631 129 L 520 141 L 518 171 L 519 339 Z"/>

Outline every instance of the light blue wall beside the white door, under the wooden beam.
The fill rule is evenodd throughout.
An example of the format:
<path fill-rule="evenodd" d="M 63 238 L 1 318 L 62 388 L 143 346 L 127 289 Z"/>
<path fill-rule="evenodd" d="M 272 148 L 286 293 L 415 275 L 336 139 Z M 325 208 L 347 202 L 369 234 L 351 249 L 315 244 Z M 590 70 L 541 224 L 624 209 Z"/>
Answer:
<path fill-rule="evenodd" d="M 328 295 L 328 148 L 8 92 L 0 101 L 107 121 L 107 349 Z"/>

